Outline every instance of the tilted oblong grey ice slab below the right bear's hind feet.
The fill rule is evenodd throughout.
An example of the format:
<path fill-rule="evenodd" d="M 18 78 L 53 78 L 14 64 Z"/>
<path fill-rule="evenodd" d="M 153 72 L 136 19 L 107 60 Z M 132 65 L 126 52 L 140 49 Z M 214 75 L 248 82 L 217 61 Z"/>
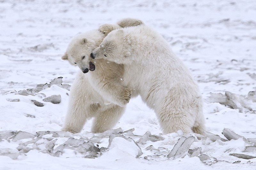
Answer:
<path fill-rule="evenodd" d="M 167 158 L 180 158 L 186 155 L 188 152 L 189 147 L 194 142 L 195 137 L 180 137 L 177 144 L 174 145 L 172 151 L 167 155 Z"/>

